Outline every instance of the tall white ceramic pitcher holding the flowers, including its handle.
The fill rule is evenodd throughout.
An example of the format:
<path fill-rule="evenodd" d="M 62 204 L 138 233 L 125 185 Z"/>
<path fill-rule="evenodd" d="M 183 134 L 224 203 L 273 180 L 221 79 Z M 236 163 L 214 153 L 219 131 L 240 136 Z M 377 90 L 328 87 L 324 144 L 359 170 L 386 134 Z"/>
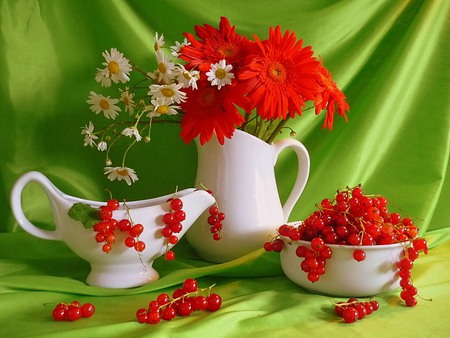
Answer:
<path fill-rule="evenodd" d="M 292 149 L 298 159 L 297 178 L 281 205 L 274 167 L 279 154 Z M 275 229 L 288 221 L 309 176 L 309 155 L 297 140 L 283 139 L 268 144 L 236 130 L 221 145 L 216 138 L 204 145 L 197 142 L 197 185 L 214 192 L 225 213 L 222 239 L 214 241 L 202 215 L 187 233 L 189 243 L 202 258 L 226 262 L 248 254 L 267 241 Z"/>

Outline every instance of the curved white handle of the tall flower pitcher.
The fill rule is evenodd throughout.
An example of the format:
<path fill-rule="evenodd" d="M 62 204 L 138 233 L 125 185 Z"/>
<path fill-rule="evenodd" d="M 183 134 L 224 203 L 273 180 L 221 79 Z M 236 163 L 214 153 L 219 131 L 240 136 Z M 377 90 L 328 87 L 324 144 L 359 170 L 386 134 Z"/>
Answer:
<path fill-rule="evenodd" d="M 297 155 L 297 161 L 298 161 L 298 171 L 297 171 L 297 177 L 295 179 L 294 186 L 291 190 L 291 193 L 289 194 L 289 197 L 287 198 L 286 202 L 283 205 L 283 213 L 285 217 L 285 221 L 288 221 L 289 215 L 291 214 L 292 209 L 295 206 L 295 203 L 297 203 L 298 199 L 300 198 L 300 195 L 303 192 L 303 189 L 305 189 L 306 182 L 308 181 L 309 177 L 309 154 L 308 150 L 305 148 L 305 146 L 294 139 L 283 139 L 279 140 L 272 144 L 274 147 L 274 156 L 275 156 L 275 163 L 278 160 L 278 156 L 280 155 L 281 151 L 283 151 L 286 148 L 291 148 L 295 151 L 295 154 Z"/>

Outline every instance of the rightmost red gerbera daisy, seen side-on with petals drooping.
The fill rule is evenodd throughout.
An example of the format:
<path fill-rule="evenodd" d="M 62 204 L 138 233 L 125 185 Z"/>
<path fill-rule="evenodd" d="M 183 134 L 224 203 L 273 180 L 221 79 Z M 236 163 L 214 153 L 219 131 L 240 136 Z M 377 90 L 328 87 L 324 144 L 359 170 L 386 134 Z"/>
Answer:
<path fill-rule="evenodd" d="M 323 87 L 323 89 L 314 98 L 316 115 L 326 109 L 327 115 L 322 128 L 332 130 L 336 106 L 337 112 L 340 116 L 344 116 L 345 121 L 348 121 L 347 114 L 345 112 L 348 111 L 350 107 L 347 104 L 344 93 L 338 88 L 337 84 L 331 78 L 331 74 L 323 66 L 323 64 L 320 65 L 319 84 Z"/>

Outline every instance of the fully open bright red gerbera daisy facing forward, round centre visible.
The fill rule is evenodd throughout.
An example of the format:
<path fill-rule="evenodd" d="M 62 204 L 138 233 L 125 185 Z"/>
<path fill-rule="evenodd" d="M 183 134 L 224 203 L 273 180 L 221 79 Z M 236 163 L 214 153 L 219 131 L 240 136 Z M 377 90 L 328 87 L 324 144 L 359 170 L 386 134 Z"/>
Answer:
<path fill-rule="evenodd" d="M 310 46 L 303 48 L 295 33 L 281 34 L 277 26 L 269 31 L 269 39 L 259 40 L 259 56 L 239 76 L 249 80 L 248 96 L 263 119 L 301 115 L 305 101 L 314 99 L 318 91 L 319 62 Z"/>

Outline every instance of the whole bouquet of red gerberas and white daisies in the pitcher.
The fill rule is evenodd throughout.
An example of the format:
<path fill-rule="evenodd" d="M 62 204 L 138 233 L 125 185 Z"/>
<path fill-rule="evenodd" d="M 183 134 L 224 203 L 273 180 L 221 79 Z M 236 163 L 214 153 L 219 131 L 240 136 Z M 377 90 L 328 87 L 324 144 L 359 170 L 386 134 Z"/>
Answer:
<path fill-rule="evenodd" d="M 127 153 L 137 142 L 150 142 L 156 123 L 179 123 L 186 143 L 198 138 L 204 145 L 214 136 L 223 144 L 240 129 L 270 144 L 304 110 L 314 109 L 316 115 L 325 110 L 323 128 L 330 130 L 335 112 L 347 119 L 345 95 L 322 59 L 294 32 L 282 33 L 276 26 L 267 39 L 250 39 L 222 17 L 219 28 L 205 24 L 195 33 L 184 33 L 184 41 L 166 51 L 164 35 L 157 33 L 157 67 L 151 72 L 115 48 L 103 52 L 104 68 L 97 69 L 95 79 L 102 87 L 119 88 L 91 91 L 87 102 L 110 123 L 96 130 L 89 122 L 81 133 L 85 146 L 106 152 L 108 179 L 128 185 L 138 180 L 127 166 Z M 132 72 L 141 78 L 132 82 Z M 129 144 L 121 163 L 114 164 L 110 153 L 120 139 Z"/>

